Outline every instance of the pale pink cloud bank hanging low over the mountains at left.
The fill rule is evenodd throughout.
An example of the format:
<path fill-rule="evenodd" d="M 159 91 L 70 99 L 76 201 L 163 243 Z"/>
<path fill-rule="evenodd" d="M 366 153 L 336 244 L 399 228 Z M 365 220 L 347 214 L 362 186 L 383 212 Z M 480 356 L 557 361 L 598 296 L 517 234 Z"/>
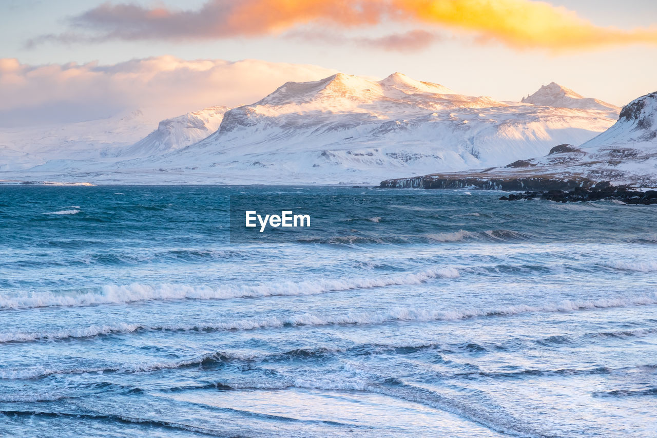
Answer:
<path fill-rule="evenodd" d="M 137 108 L 166 118 L 212 105 L 252 103 L 284 82 L 335 72 L 284 62 L 170 56 L 112 65 L 32 66 L 0 59 L 0 120 L 3 126 L 77 122 Z"/>

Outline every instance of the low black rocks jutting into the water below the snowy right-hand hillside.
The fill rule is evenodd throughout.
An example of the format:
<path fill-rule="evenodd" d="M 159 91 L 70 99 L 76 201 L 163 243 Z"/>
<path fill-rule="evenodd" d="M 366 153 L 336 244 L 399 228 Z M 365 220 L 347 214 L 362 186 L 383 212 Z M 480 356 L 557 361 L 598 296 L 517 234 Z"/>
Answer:
<path fill-rule="evenodd" d="M 614 186 L 608 182 L 597 183 L 593 187 L 575 187 L 570 191 L 547 190 L 525 191 L 503 196 L 501 201 L 518 201 L 519 199 L 545 199 L 558 203 L 583 201 L 616 200 L 625 204 L 657 204 L 657 190 L 638 191 L 627 185 Z"/>

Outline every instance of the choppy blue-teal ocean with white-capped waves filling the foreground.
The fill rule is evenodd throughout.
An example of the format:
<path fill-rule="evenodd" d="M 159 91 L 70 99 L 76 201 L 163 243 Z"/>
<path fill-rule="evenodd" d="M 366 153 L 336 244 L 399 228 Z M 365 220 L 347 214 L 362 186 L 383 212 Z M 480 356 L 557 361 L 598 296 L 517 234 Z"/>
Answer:
<path fill-rule="evenodd" d="M 0 435 L 656 436 L 657 206 L 501 194 L 0 187 Z"/>

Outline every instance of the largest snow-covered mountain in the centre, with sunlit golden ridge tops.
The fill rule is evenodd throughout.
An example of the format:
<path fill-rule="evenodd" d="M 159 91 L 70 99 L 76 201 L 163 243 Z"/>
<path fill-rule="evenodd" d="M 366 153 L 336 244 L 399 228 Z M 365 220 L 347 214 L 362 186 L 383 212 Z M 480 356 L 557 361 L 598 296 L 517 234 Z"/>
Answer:
<path fill-rule="evenodd" d="M 502 102 L 399 73 L 378 82 L 335 74 L 288 82 L 252 105 L 164 120 L 113 160 L 57 160 L 22 174 L 101 183 L 378 183 L 501 166 L 583 143 L 618 115 L 589 108 L 595 99 L 570 91 L 568 98 L 584 102 Z"/>

